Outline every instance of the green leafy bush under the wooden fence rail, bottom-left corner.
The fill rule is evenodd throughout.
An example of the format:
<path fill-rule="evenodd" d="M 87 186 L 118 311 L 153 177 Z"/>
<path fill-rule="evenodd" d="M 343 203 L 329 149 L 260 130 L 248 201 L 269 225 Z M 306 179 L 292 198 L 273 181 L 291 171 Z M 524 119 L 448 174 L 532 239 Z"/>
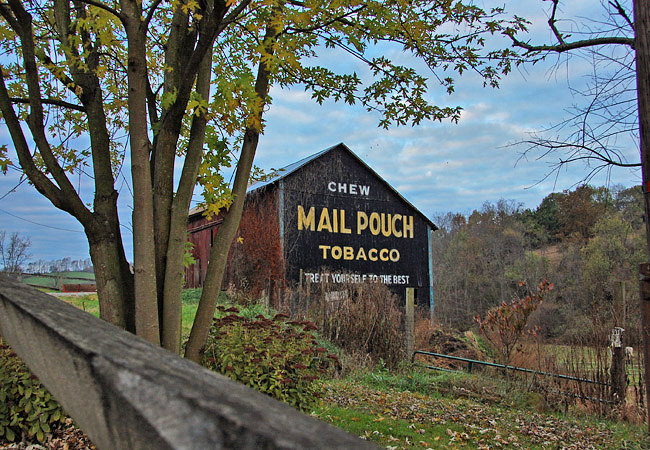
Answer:
<path fill-rule="evenodd" d="M 65 423 L 61 406 L 0 339 L 0 443 L 45 441 Z"/>

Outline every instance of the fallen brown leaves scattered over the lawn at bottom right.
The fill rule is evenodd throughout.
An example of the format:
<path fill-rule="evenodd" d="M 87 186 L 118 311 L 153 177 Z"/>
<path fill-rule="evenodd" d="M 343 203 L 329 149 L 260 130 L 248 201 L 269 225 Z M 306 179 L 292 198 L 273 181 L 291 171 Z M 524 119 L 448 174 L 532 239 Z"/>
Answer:
<path fill-rule="evenodd" d="M 326 404 L 368 415 L 364 423 L 372 430 L 364 437 L 386 448 L 620 446 L 614 431 L 604 422 L 586 426 L 575 419 L 532 410 L 486 405 L 471 398 L 437 398 L 392 388 L 373 389 L 349 379 L 331 382 L 325 391 Z"/>

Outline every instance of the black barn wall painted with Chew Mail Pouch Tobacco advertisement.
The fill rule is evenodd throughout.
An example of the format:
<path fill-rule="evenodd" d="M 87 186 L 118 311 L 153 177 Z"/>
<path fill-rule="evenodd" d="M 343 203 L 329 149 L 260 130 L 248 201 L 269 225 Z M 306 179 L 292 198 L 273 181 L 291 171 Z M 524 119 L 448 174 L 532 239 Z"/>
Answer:
<path fill-rule="evenodd" d="M 322 155 L 281 189 L 289 278 L 429 287 L 433 224 L 350 152 Z"/>

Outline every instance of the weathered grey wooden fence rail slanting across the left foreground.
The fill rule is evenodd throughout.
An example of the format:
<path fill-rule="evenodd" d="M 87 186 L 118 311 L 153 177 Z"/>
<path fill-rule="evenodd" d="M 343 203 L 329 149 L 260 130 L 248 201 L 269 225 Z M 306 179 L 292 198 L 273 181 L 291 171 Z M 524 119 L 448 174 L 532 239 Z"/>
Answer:
<path fill-rule="evenodd" d="M 0 335 L 101 449 L 374 447 L 3 277 Z"/>

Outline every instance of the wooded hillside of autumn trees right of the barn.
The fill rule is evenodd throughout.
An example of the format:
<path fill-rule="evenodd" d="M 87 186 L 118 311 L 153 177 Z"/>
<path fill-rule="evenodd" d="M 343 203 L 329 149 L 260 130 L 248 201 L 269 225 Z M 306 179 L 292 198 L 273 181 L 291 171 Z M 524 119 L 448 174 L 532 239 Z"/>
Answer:
<path fill-rule="evenodd" d="M 634 339 L 643 217 L 640 187 L 589 185 L 552 193 L 534 210 L 501 200 L 438 217 L 436 318 L 470 328 L 477 314 L 547 278 L 555 289 L 534 317 L 543 336 L 576 340 L 597 325 L 621 326 Z"/>

